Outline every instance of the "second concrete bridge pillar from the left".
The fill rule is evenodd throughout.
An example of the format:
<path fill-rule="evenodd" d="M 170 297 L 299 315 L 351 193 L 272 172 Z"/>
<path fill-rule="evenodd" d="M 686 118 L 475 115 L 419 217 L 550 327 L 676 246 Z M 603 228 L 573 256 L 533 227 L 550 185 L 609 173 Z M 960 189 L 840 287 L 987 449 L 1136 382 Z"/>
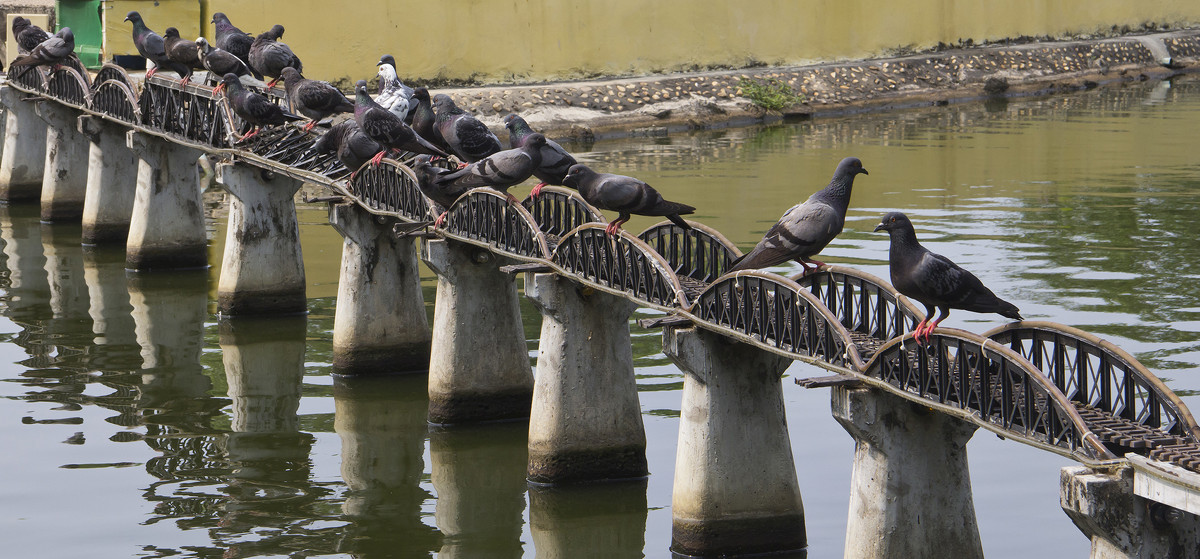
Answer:
<path fill-rule="evenodd" d="M 46 121 L 46 173 L 42 221 L 79 222 L 88 192 L 88 138 L 79 133 L 79 113 L 59 103 L 38 103 Z"/>

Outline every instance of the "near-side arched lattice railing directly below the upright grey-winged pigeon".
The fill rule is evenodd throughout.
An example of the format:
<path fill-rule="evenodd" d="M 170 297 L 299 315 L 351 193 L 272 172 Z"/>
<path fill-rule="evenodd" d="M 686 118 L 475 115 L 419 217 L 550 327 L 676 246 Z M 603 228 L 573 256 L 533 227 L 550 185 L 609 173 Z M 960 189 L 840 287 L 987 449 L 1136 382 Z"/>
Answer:
<path fill-rule="evenodd" d="M 836 317 L 811 293 L 774 274 L 743 270 L 721 277 L 700 295 L 691 314 L 744 341 L 839 367 L 862 366 Z"/>

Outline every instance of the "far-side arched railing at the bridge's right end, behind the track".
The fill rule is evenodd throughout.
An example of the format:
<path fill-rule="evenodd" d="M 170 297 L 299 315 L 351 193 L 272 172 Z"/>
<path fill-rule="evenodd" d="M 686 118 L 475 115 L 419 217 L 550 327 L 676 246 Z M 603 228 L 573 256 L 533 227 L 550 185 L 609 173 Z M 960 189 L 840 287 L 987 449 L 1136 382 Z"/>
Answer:
<path fill-rule="evenodd" d="M 1070 401 L 1193 443 L 1200 441 L 1200 427 L 1183 401 L 1133 355 L 1106 339 L 1042 320 L 1006 324 L 983 336 L 1025 355 Z M 1046 343 L 1051 344 L 1050 354 L 1045 351 Z M 1075 349 L 1074 359 L 1067 354 L 1069 348 Z M 1087 356 L 1098 360 L 1097 368 L 1087 366 L 1091 360 L 1081 360 Z M 1074 371 L 1068 371 L 1070 368 Z M 1111 378 L 1117 371 L 1122 378 Z M 1096 390 L 1097 384 L 1099 390 Z M 1145 398 L 1139 397 L 1139 391 Z"/>

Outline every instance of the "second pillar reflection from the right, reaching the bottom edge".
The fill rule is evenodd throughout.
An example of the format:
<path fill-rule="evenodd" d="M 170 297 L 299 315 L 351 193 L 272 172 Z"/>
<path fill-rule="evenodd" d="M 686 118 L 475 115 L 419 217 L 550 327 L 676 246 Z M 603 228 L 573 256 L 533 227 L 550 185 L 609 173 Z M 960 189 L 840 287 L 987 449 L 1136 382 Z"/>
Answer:
<path fill-rule="evenodd" d="M 524 421 L 430 432 L 439 558 L 520 558 L 529 457 Z"/>

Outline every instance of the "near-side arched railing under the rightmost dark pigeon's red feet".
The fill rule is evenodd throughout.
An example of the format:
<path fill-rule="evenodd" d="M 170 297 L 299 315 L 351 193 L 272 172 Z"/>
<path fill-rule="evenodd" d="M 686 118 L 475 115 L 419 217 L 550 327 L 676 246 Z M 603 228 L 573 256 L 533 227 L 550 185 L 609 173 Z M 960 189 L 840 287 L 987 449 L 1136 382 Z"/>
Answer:
<path fill-rule="evenodd" d="M 924 344 L 908 333 L 883 344 L 860 371 L 911 399 L 958 408 L 990 431 L 1016 433 L 1090 459 L 1115 458 L 1037 367 L 977 333 L 938 329 Z"/>

